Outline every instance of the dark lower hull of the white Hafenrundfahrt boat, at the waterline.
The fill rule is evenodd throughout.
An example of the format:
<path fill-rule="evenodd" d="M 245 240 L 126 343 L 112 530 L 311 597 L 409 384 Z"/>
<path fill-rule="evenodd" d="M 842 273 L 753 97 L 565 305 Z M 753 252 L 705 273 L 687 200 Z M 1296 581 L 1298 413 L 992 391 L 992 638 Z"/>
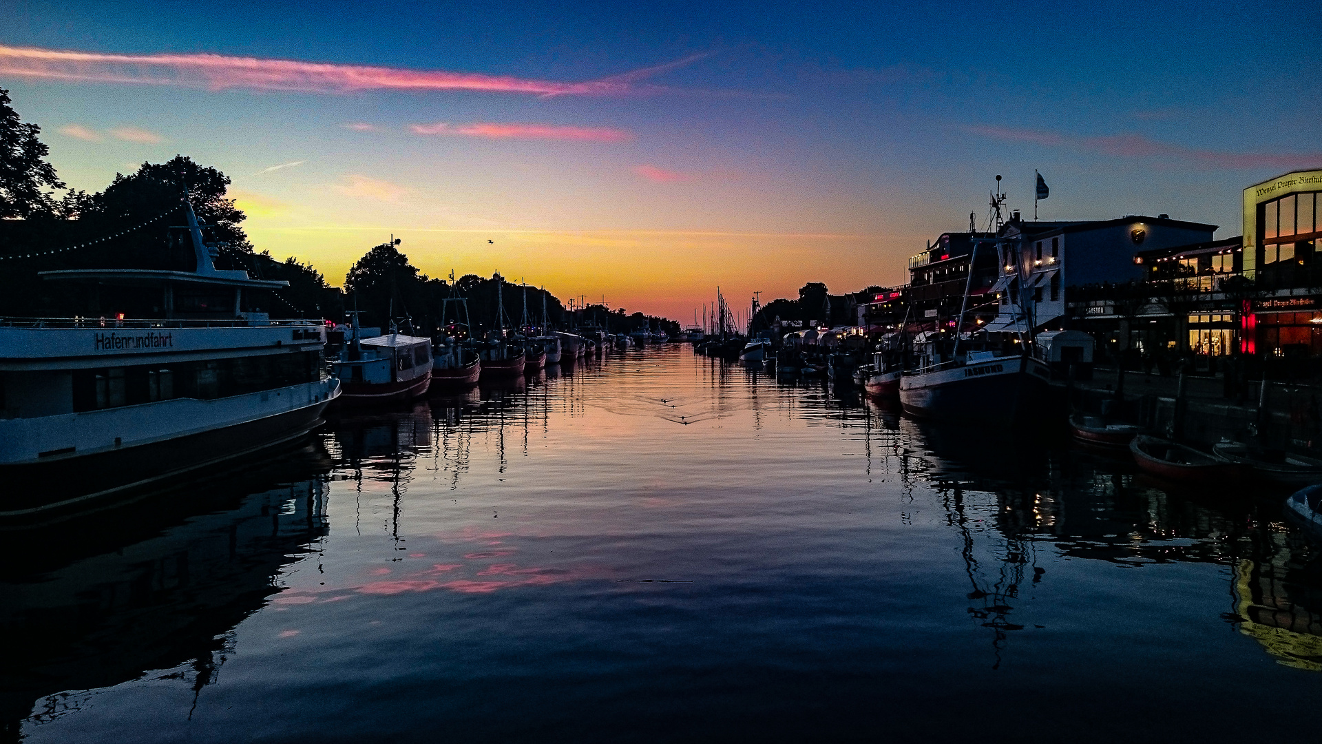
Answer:
<path fill-rule="evenodd" d="M 0 479 L 5 483 L 0 520 L 78 512 L 102 499 L 292 442 L 321 425 L 327 406 L 341 395 L 341 385 L 336 384 L 323 400 L 251 421 L 135 446 L 0 465 Z"/>

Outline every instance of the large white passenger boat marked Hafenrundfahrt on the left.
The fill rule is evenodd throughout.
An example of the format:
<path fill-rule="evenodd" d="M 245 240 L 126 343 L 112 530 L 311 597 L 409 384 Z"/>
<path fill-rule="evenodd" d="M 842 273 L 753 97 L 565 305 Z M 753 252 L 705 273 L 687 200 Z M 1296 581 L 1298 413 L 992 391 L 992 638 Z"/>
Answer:
<path fill-rule="evenodd" d="M 193 271 L 45 271 L 86 287 L 78 315 L 0 319 L 0 518 L 291 441 L 340 395 L 323 375 L 323 322 L 256 311 L 287 282 L 215 269 L 215 246 L 182 209 Z"/>

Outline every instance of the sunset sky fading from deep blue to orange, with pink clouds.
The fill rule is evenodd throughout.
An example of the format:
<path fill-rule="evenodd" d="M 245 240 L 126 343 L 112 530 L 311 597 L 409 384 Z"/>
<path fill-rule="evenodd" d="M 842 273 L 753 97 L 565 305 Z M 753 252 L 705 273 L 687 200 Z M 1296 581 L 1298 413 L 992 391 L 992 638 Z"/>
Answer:
<path fill-rule="evenodd" d="M 899 285 L 1003 176 L 1043 220 L 1239 234 L 1322 167 L 1317 3 L 0 4 L 0 87 L 74 188 L 219 168 L 258 250 L 333 285 L 401 238 L 691 322 Z"/>

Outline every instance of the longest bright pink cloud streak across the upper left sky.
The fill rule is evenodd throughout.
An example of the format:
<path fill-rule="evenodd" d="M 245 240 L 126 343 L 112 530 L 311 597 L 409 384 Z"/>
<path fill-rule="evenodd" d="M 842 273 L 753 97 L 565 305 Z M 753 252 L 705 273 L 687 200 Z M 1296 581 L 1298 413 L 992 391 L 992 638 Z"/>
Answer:
<path fill-rule="evenodd" d="M 360 90 L 477 90 L 526 95 L 623 95 L 654 93 L 639 81 L 691 64 L 702 54 L 596 81 L 561 82 L 481 73 L 408 70 L 230 57 L 225 54 L 106 54 L 0 45 L 0 75 L 139 85 L 185 85 L 350 93 Z"/>

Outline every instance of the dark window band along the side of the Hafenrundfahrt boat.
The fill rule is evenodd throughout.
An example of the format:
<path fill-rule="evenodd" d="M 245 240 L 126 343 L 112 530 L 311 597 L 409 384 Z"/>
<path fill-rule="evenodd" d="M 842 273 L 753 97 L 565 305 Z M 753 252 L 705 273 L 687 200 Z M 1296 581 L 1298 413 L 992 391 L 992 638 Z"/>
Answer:
<path fill-rule="evenodd" d="M 98 410 L 177 397 L 213 400 L 321 377 L 321 355 L 309 352 L 208 361 L 75 369 L 74 410 Z"/>

